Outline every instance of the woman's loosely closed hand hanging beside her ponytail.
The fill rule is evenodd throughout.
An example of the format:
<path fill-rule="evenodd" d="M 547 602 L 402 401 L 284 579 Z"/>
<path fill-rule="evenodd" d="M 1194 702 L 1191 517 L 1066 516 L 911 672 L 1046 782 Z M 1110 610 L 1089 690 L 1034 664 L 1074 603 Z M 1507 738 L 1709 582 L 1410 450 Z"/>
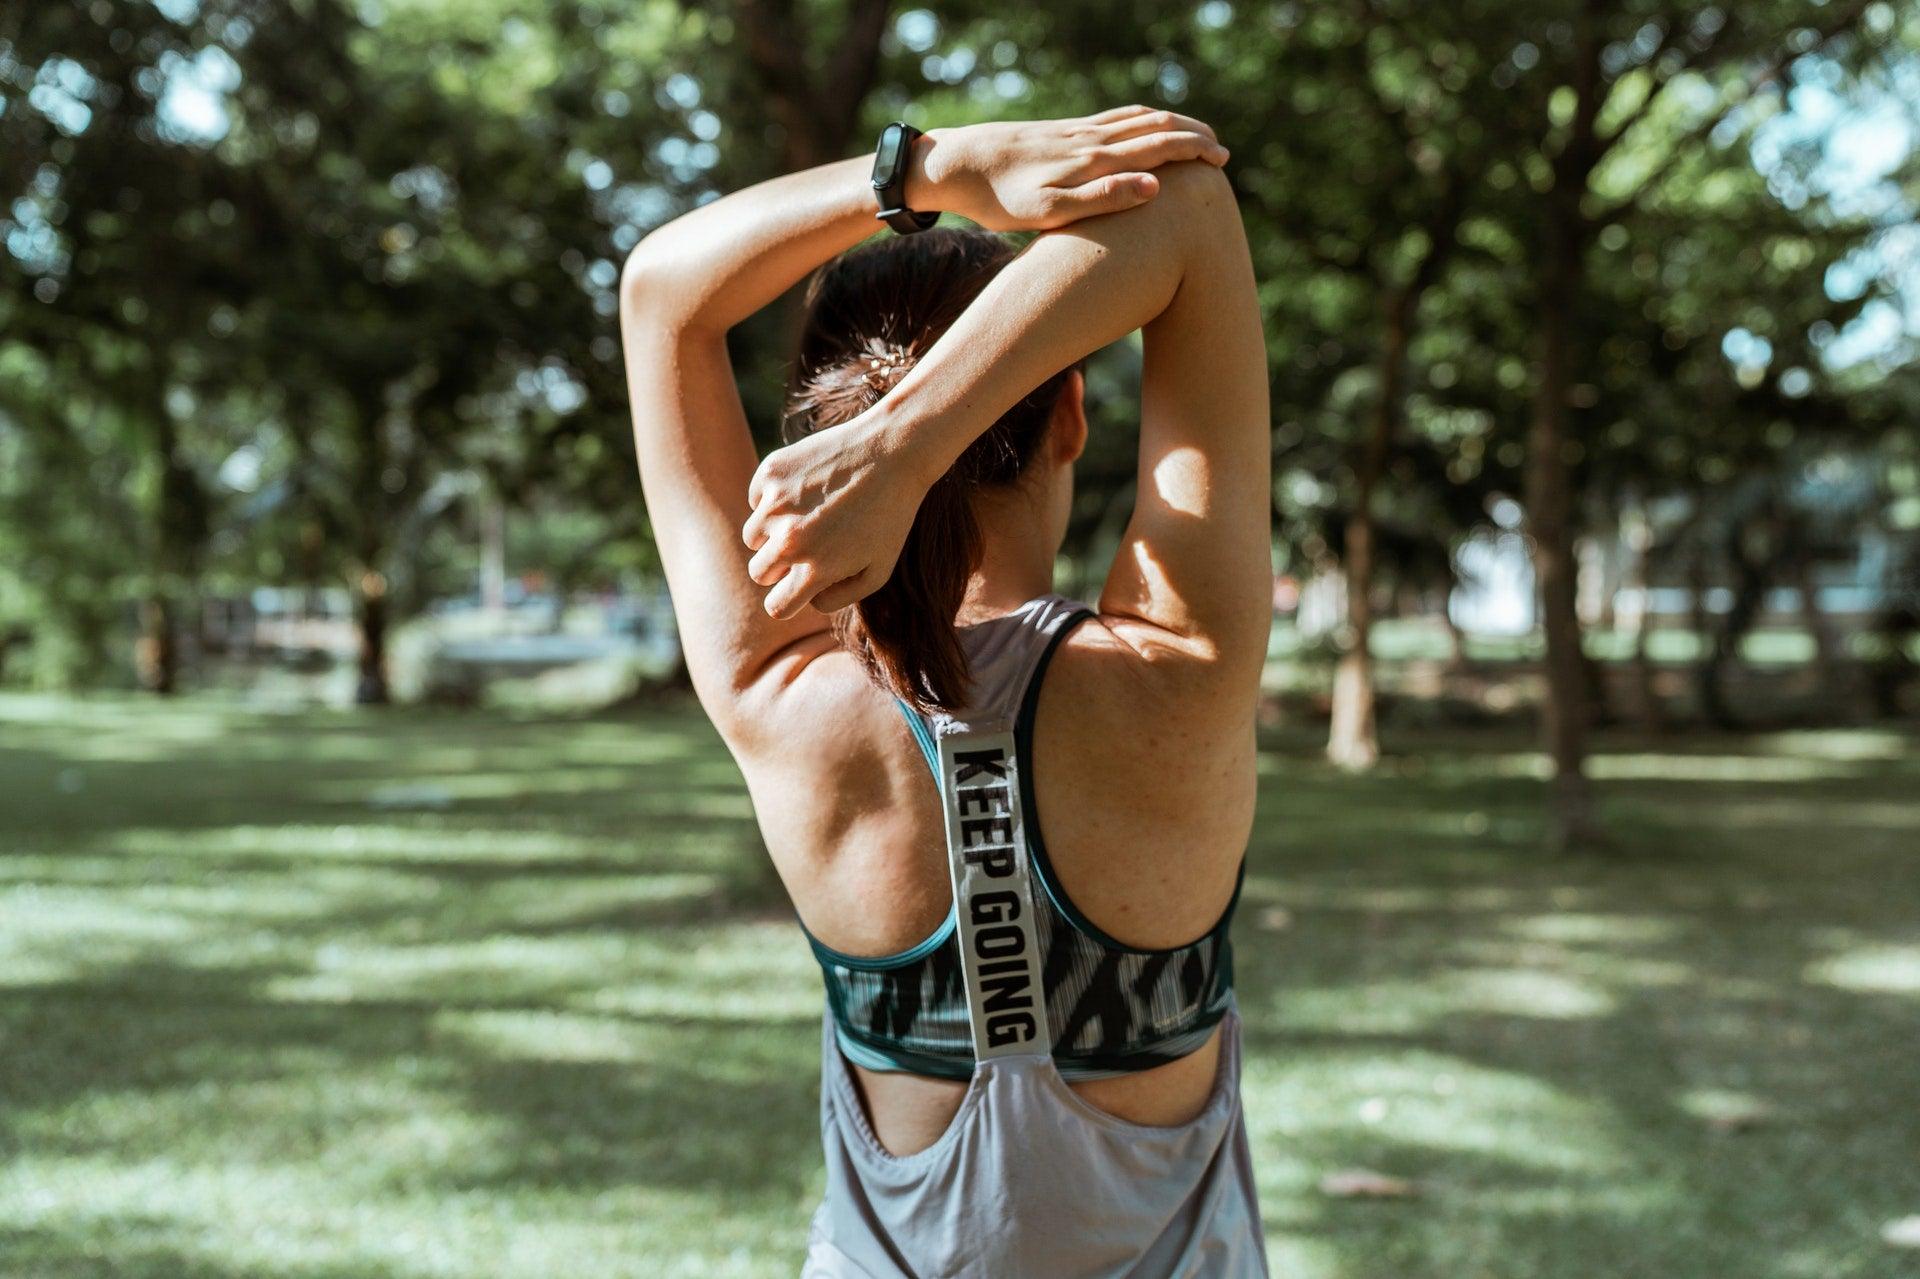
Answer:
<path fill-rule="evenodd" d="M 808 603 L 833 613 L 879 590 L 925 495 L 912 451 L 889 444 L 874 413 L 768 453 L 741 530 L 753 549 L 747 576 L 770 588 L 768 616 L 797 616 Z"/>

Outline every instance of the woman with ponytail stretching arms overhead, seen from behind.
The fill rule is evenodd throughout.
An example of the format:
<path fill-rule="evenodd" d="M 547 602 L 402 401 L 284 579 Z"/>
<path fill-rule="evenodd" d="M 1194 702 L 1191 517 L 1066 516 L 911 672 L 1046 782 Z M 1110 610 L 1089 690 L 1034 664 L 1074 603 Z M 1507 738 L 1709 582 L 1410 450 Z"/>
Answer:
<path fill-rule="evenodd" d="M 1225 159 L 1144 108 L 935 131 L 904 205 L 989 230 L 849 253 L 849 159 L 622 277 L 687 666 L 828 985 L 808 1275 L 1265 1273 L 1227 922 L 1269 428 Z M 726 332 L 822 265 L 756 469 Z M 1139 492 L 1089 611 L 1052 593 L 1079 361 L 1137 328 Z"/>

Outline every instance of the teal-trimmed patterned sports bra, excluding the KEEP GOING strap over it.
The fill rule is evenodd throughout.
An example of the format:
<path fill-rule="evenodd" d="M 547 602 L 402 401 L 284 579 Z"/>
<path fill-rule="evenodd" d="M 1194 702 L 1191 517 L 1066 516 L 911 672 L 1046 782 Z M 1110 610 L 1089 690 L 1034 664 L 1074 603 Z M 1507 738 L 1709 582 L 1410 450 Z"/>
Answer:
<path fill-rule="evenodd" d="M 1041 839 L 1033 801 L 1033 712 L 1054 649 L 1092 616 L 1060 595 L 1043 595 L 1014 613 L 962 628 L 973 674 L 973 705 L 958 716 L 900 711 L 927 764 L 941 780 L 939 737 L 977 724 L 1010 724 L 1018 774 L 1016 830 L 1023 828 L 1031 891 L 1025 947 L 1044 1004 L 1043 1047 L 1068 1079 L 1102 1079 L 1187 1056 L 1202 1047 L 1233 1006 L 1229 926 L 1240 883 L 1219 922 L 1181 947 L 1140 949 L 1116 941 L 1068 899 Z M 964 737 L 962 737 L 964 739 Z M 952 812 L 948 820 L 952 824 Z M 952 830 L 952 826 L 950 826 Z M 952 835 L 950 835 L 952 837 Z M 1246 862 L 1240 862 L 1240 881 Z M 804 924 L 801 926 L 804 931 Z M 843 954 L 806 933 L 826 977 L 828 1008 L 841 1050 L 858 1066 L 945 1079 L 973 1074 L 975 1035 L 968 1002 L 958 906 L 931 937 L 879 958 Z M 993 931 L 993 929 L 989 929 Z M 1002 964 L 1004 968 L 1004 964 Z M 991 979 L 987 979 L 991 987 Z M 1037 1012 L 1037 1010 L 1035 1010 Z"/>

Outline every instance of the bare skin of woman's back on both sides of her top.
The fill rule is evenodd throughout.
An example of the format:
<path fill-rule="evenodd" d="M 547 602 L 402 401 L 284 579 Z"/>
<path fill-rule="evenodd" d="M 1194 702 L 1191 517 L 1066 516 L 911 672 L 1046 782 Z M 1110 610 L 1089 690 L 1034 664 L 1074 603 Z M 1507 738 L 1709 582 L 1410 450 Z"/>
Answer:
<path fill-rule="evenodd" d="M 1033 724 L 1039 833 L 1060 885 L 1114 939 L 1140 949 L 1204 935 L 1233 899 L 1254 812 L 1252 697 L 1196 693 L 1204 663 L 1142 655 L 1121 618 L 1060 645 Z M 952 891 L 939 791 L 891 699 L 845 653 L 808 664 L 810 741 L 743 760 L 774 862 L 806 928 L 835 951 L 895 954 L 929 937 Z M 1225 709 L 1225 712 L 1221 711 Z M 778 814 L 778 816 L 776 816 Z M 772 818 L 772 820 L 768 820 Z M 1206 1102 L 1217 1037 L 1165 1066 L 1073 1081 L 1089 1104 L 1171 1125 Z M 881 1145 L 920 1150 L 966 1085 L 856 1068 Z"/>

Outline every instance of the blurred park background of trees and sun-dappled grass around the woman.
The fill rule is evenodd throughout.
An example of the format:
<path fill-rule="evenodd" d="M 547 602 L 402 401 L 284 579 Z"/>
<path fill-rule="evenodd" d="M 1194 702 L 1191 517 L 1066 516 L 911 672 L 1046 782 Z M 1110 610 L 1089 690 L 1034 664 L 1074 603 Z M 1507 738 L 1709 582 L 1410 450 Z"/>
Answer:
<path fill-rule="evenodd" d="M 0 6 L 0 1271 L 797 1269 L 818 977 L 620 263 L 889 119 L 1125 102 L 1215 125 L 1261 280 L 1277 1273 L 1920 1273 L 1885 0 Z M 733 334 L 762 440 L 795 319 Z"/>

